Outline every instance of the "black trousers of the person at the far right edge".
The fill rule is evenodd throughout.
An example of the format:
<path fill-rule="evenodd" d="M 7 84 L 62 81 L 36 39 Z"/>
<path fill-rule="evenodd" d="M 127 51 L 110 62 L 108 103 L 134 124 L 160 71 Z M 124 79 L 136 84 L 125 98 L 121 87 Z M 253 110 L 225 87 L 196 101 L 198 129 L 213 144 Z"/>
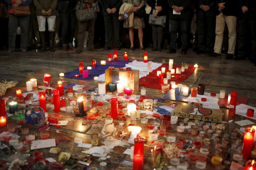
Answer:
<path fill-rule="evenodd" d="M 248 32 L 250 33 L 249 38 Z M 239 20 L 239 39 L 238 39 L 238 56 L 239 57 L 248 57 L 247 53 L 247 41 L 250 41 L 251 39 L 251 49 L 249 48 L 248 51 L 252 51 L 252 58 L 256 57 L 256 20 L 252 20 L 245 16 L 243 19 Z"/>

